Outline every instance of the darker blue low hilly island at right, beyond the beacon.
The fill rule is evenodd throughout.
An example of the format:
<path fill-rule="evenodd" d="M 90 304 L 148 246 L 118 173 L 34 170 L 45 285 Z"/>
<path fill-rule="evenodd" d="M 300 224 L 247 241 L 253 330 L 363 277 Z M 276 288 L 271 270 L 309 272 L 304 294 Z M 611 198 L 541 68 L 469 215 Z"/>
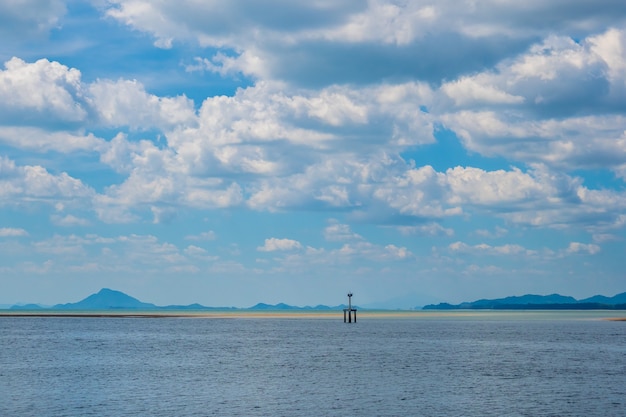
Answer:
<path fill-rule="evenodd" d="M 582 300 L 559 294 L 527 294 L 461 304 L 430 304 L 423 310 L 626 310 L 626 292 L 613 297 L 595 295 Z"/>

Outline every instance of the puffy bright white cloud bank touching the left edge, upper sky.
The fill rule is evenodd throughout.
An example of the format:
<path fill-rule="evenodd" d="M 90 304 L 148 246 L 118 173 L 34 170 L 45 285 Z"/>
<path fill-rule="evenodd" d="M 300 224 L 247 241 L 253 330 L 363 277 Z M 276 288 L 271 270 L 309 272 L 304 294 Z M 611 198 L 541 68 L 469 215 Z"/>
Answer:
<path fill-rule="evenodd" d="M 0 99 L 0 121 L 12 125 L 167 130 L 196 123 L 194 103 L 185 96 L 158 97 L 135 80 L 84 83 L 78 69 L 47 59 L 7 61 Z"/>

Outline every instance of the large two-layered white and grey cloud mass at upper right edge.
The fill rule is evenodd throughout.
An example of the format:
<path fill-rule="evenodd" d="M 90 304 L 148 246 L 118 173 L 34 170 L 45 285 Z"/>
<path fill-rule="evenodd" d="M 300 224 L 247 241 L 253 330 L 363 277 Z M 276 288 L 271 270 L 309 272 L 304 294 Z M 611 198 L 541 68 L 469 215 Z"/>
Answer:
<path fill-rule="evenodd" d="M 495 70 L 444 84 L 458 109 L 447 108 L 441 120 L 482 155 L 619 173 L 626 156 L 618 110 L 626 105 L 624 68 L 624 30 L 578 42 L 550 36 Z M 481 91 L 492 91 L 491 98 Z"/>

